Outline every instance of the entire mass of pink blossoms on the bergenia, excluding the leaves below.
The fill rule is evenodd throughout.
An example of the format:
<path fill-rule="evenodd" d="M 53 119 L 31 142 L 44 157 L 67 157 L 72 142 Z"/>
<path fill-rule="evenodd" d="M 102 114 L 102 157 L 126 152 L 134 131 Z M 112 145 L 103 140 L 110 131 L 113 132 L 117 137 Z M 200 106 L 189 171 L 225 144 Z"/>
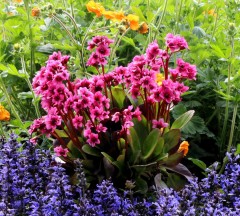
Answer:
<path fill-rule="evenodd" d="M 87 65 L 97 69 L 102 66 L 102 74 L 72 82 L 67 70 L 69 56 L 55 52 L 33 79 L 33 89 L 41 96 L 47 114 L 34 120 L 29 131 L 57 138 L 64 147 L 55 148 L 57 155 L 66 157 L 67 145 L 56 129 L 63 130 L 81 151 L 85 142 L 91 146 L 101 144 L 103 134 L 109 133 L 108 121 L 120 123 L 121 129 L 115 131 L 118 138 L 125 138 L 133 126 L 133 118 L 141 121 L 142 114 L 152 128 L 167 127 L 171 106 L 181 101 L 181 95 L 188 90 L 183 80 L 196 79 L 196 66 L 182 59 L 177 59 L 176 68 L 169 68 L 172 53 L 188 48 L 180 36 L 168 34 L 165 50 L 154 41 L 145 55 L 135 56 L 127 67 L 104 73 L 111 43 L 105 36 L 96 36 L 88 43 L 88 49 L 95 51 Z M 115 86 L 121 86 L 122 93 L 138 101 L 140 106 L 114 107 L 112 88 Z"/>

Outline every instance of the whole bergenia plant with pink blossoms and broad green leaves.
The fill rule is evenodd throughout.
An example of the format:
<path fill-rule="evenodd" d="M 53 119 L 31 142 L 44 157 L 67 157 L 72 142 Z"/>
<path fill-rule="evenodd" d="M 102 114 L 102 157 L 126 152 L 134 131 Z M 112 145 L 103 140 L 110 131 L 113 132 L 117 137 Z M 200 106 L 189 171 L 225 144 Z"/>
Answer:
<path fill-rule="evenodd" d="M 86 64 L 98 71 L 88 79 L 70 80 L 69 56 L 55 52 L 49 57 L 33 80 L 47 114 L 34 121 L 30 132 L 55 138 L 54 151 L 62 160 L 80 158 L 90 183 L 111 177 L 119 187 L 130 181 L 146 192 L 154 177 L 162 185 L 159 173 L 191 178 L 180 164 L 189 145 L 180 129 L 194 111 L 170 123 L 172 107 L 189 89 L 184 80 L 196 79 L 196 66 L 181 58 L 175 68 L 169 66 L 173 54 L 188 49 L 186 40 L 168 34 L 165 49 L 154 41 L 126 67 L 106 72 L 112 43 L 106 36 L 88 43 L 92 53 Z"/>

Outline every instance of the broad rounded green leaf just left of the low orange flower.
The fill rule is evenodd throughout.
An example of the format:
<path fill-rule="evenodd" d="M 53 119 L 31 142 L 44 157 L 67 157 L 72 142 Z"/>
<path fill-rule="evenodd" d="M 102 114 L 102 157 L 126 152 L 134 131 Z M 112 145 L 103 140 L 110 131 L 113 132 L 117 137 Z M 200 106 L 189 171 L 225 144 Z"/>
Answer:
<path fill-rule="evenodd" d="M 180 140 L 181 132 L 179 129 L 171 129 L 163 135 L 164 138 L 164 152 L 168 152 L 174 148 Z"/>

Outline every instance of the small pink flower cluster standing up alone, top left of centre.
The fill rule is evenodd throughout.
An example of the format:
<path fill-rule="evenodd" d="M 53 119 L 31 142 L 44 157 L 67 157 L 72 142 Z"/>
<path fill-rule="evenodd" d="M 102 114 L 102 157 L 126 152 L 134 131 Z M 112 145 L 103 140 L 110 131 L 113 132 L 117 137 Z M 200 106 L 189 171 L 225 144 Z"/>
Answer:
<path fill-rule="evenodd" d="M 88 66 L 103 66 L 107 64 L 106 57 L 110 55 L 109 45 L 113 43 L 113 40 L 110 40 L 106 36 L 95 36 L 88 43 L 88 50 L 96 48 L 95 52 L 92 52 L 90 58 L 87 61 Z"/>

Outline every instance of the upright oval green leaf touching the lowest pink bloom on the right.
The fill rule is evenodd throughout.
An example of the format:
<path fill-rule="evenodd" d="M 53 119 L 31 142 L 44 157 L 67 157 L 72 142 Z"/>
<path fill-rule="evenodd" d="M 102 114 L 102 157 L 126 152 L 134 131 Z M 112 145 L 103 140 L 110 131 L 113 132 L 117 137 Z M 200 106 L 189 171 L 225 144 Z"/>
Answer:
<path fill-rule="evenodd" d="M 146 140 L 144 141 L 142 145 L 142 155 L 143 159 L 146 160 L 151 156 L 153 153 L 157 143 L 158 143 L 158 138 L 160 136 L 160 130 L 155 128 L 153 129 L 149 135 L 147 136 Z"/>

